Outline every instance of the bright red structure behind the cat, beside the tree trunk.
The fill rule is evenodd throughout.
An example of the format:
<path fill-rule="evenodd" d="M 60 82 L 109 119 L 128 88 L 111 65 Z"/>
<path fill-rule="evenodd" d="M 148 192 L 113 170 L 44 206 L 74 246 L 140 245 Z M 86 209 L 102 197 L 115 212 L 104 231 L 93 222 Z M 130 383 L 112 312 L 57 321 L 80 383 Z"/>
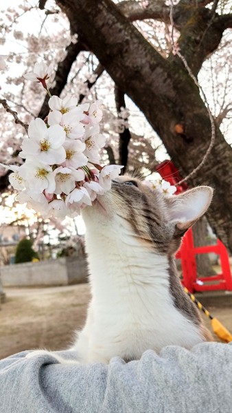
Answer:
<path fill-rule="evenodd" d="M 161 177 L 171 185 L 176 185 L 176 193 L 186 191 L 187 184 L 181 181 L 178 170 L 170 160 L 165 160 L 156 167 Z M 220 256 L 222 273 L 211 275 L 209 277 L 198 277 L 196 268 L 196 254 L 215 253 Z M 224 244 L 217 240 L 216 245 L 194 246 L 194 237 L 190 228 L 183 237 L 181 248 L 176 253 L 176 258 L 181 259 L 183 270 L 183 285 L 190 291 L 209 291 L 209 290 L 229 290 L 232 291 L 231 268 L 229 265 L 229 256 Z"/>

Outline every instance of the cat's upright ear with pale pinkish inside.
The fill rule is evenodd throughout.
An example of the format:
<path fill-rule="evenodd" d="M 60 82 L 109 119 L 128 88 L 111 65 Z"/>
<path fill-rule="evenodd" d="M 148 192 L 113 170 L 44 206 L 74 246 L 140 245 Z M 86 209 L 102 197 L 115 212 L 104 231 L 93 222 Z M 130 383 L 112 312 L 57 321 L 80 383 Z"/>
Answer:
<path fill-rule="evenodd" d="M 180 231 L 187 231 L 209 208 L 213 196 L 211 187 L 196 187 L 169 198 L 169 222 Z"/>

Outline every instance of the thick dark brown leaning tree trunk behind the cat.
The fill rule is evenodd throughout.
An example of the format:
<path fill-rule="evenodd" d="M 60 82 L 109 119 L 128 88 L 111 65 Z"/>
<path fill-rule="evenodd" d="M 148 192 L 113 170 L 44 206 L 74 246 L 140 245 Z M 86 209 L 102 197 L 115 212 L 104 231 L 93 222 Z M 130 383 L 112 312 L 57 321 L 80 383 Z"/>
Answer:
<path fill-rule="evenodd" d="M 178 56 L 163 59 L 111 0 L 56 2 L 67 14 L 71 30 L 82 35 L 115 83 L 138 105 L 186 176 L 205 155 L 211 126 L 198 88 Z M 196 10 L 195 2 L 183 4 L 182 14 L 174 18 L 182 25 L 181 52 L 197 73 L 206 56 L 218 47 L 224 25 L 216 15 L 208 27 L 209 10 Z M 175 131 L 178 123 L 183 124 L 183 134 Z M 231 165 L 232 149 L 216 128 L 216 145 L 190 182 L 216 189 L 209 222 L 232 251 Z"/>

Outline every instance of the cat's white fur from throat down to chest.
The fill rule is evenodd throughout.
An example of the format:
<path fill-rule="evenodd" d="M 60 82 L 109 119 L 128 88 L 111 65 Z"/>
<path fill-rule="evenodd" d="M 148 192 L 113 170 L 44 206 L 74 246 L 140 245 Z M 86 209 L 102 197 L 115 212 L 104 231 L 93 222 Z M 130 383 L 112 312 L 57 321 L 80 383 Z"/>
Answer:
<path fill-rule="evenodd" d="M 143 247 L 119 217 L 104 231 L 100 225 L 92 220 L 86 233 L 93 298 L 73 346 L 80 361 L 139 359 L 148 349 L 191 348 L 202 341 L 198 328 L 174 306 L 167 257 Z"/>

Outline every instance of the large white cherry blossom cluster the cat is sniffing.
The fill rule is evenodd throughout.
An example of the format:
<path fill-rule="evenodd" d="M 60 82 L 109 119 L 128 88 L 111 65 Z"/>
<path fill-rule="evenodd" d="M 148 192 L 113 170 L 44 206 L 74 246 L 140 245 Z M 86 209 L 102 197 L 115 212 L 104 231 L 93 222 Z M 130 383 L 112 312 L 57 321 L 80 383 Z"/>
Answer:
<path fill-rule="evenodd" d="M 40 82 L 49 94 L 52 70 L 51 65 L 36 63 L 25 78 Z M 100 134 L 100 103 L 78 105 L 72 96 L 49 96 L 47 118 L 32 120 L 23 139 L 19 153 L 23 165 L 1 166 L 13 171 L 9 180 L 19 191 L 16 200 L 46 218 L 62 219 L 79 215 L 81 208 L 111 189 L 121 166 L 100 166 L 100 149 L 106 141 Z"/>

